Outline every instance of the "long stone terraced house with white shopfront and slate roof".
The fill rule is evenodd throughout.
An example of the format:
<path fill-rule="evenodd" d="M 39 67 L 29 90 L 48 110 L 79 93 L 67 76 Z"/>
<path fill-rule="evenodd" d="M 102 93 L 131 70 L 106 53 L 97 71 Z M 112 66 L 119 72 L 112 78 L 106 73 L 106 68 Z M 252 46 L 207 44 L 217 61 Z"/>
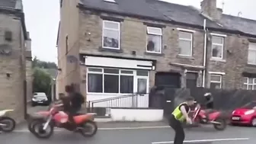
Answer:
<path fill-rule="evenodd" d="M 62 0 L 57 91 L 88 101 L 153 85 L 256 89 L 256 21 L 157 0 Z"/>

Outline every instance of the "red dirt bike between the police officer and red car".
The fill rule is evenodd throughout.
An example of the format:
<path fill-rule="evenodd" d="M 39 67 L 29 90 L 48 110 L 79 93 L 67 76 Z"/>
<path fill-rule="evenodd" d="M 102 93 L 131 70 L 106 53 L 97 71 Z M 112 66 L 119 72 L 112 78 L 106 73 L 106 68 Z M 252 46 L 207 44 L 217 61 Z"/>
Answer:
<path fill-rule="evenodd" d="M 194 114 L 192 116 L 192 122 L 199 124 L 213 124 L 213 127 L 216 130 L 225 130 L 226 129 L 226 119 L 221 117 L 221 112 L 218 110 L 213 110 L 206 117 L 206 111 L 202 110 L 200 104 L 197 104 L 197 107 L 194 109 Z"/>

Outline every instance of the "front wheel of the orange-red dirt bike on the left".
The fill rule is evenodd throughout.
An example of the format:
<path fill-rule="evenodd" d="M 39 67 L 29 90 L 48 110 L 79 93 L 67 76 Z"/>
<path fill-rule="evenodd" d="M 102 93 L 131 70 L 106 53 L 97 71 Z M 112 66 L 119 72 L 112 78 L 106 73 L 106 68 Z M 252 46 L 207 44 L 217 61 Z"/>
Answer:
<path fill-rule="evenodd" d="M 32 132 L 34 133 L 34 135 L 39 138 L 39 139 L 49 139 L 50 136 L 53 135 L 53 130 L 54 130 L 54 126 L 53 124 L 49 123 L 49 132 L 46 132 L 45 130 L 43 130 L 43 124 L 45 123 L 45 121 L 43 120 L 38 120 L 36 121 L 33 126 L 32 126 Z M 36 128 L 38 128 L 38 132 L 36 130 Z M 46 134 L 45 134 L 46 133 Z"/>

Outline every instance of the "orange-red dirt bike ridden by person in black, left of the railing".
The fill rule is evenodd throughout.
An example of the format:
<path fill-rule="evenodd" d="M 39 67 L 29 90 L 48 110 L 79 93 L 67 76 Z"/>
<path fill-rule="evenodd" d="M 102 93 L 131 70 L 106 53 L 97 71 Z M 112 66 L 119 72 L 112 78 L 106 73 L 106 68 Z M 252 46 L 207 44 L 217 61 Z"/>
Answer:
<path fill-rule="evenodd" d="M 95 114 L 76 114 L 74 117 L 76 127 L 69 123 L 69 116 L 59 110 L 62 104 L 53 105 L 49 111 L 40 112 L 45 118 L 37 120 L 32 126 L 32 133 L 37 138 L 47 139 L 53 135 L 54 127 L 64 128 L 69 131 L 81 133 L 85 137 L 94 136 L 98 131 L 98 126 L 94 122 Z"/>

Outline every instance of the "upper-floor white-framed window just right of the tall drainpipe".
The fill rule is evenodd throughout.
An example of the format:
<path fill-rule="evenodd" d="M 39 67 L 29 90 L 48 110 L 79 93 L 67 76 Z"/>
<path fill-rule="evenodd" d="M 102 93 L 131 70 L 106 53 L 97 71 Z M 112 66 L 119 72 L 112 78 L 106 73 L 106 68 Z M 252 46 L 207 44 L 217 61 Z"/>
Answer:
<path fill-rule="evenodd" d="M 212 57 L 216 59 L 223 58 L 223 46 L 224 46 L 224 37 L 212 37 Z"/>

